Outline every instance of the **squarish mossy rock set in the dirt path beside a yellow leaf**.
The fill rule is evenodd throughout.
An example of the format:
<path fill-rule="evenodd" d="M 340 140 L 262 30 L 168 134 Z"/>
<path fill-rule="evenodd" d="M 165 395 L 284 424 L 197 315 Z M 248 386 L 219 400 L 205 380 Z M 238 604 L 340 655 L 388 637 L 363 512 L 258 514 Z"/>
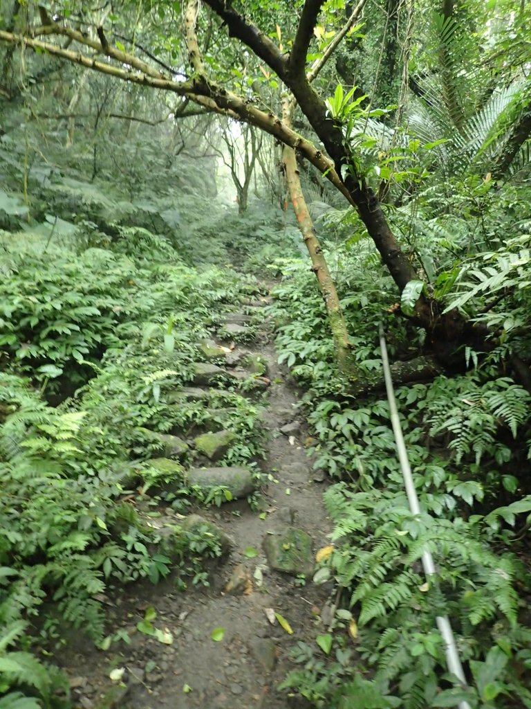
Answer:
<path fill-rule="evenodd" d="M 271 569 L 292 576 L 312 574 L 312 537 L 299 527 L 287 527 L 280 535 L 267 535 L 263 549 Z"/>

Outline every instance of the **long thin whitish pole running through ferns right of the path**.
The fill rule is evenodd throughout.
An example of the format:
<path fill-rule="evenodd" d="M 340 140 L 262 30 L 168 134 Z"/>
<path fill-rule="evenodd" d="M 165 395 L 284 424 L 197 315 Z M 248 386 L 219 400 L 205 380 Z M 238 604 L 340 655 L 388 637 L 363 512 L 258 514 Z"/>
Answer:
<path fill-rule="evenodd" d="M 411 474 L 411 466 L 409 464 L 408 454 L 406 451 L 404 435 L 402 435 L 398 408 L 396 408 L 396 399 L 394 398 L 393 381 L 391 379 L 391 369 L 389 368 L 389 357 L 387 356 L 387 345 L 385 344 L 383 325 L 379 326 L 379 345 L 382 350 L 382 364 L 384 367 L 385 388 L 387 389 L 387 400 L 389 401 L 391 423 L 394 438 L 396 440 L 396 450 L 398 452 L 400 467 L 402 469 L 402 475 L 404 476 L 404 485 L 406 487 L 409 508 L 413 515 L 420 515 L 421 506 L 418 504 L 418 497 L 413 483 L 413 475 Z M 431 552 L 428 549 L 426 549 L 423 553 L 422 566 L 424 569 L 424 574 L 426 574 L 426 579 L 429 581 L 430 576 L 435 574 L 435 564 L 433 563 Z M 448 620 L 447 615 L 438 615 L 436 621 L 439 632 L 442 635 L 442 640 L 445 643 L 446 663 L 448 670 L 452 674 L 455 674 L 457 679 L 459 679 L 459 681 L 463 683 L 463 686 L 466 687 L 467 680 L 465 679 L 463 666 L 461 664 L 461 660 L 459 659 L 459 653 L 457 652 L 457 645 L 455 644 L 455 637 L 452 631 L 452 626 L 450 625 L 450 620 Z M 469 703 L 464 700 L 460 701 L 457 706 L 459 709 L 470 709 Z"/>

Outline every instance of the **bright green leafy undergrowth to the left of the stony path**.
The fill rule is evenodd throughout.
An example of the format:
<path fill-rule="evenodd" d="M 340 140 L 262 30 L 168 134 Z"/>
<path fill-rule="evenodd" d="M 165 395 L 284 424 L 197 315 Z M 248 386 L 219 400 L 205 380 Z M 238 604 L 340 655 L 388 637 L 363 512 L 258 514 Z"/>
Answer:
<path fill-rule="evenodd" d="M 186 447 L 152 465 L 164 435 L 214 417 L 237 434 L 221 464 L 261 457 L 260 406 L 233 382 L 201 401 L 179 396 L 223 312 L 258 293 L 253 277 L 195 269 L 144 228 L 108 232 L 1 237 L 2 709 L 68 703 L 46 654 L 68 625 L 113 639 L 105 593 L 170 574 L 178 587 L 208 583 L 202 559 L 222 553 L 219 540 L 176 523 L 163 534 L 150 520 L 161 503 L 182 513 L 227 491 L 186 483 Z"/>

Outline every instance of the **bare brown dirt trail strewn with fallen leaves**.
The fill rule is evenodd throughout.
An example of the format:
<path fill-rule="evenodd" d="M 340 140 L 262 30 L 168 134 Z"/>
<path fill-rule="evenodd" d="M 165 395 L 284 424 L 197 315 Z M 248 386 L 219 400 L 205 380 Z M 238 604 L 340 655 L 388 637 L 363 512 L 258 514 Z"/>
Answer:
<path fill-rule="evenodd" d="M 299 393 L 285 381 L 270 344 L 271 325 L 261 307 L 267 301 L 262 298 L 253 306 L 254 317 L 261 321 L 255 342 L 236 345 L 236 351 L 261 355 L 270 380 L 267 393 L 255 395 L 263 398 L 264 406 L 266 456 L 261 467 L 270 474 L 259 508 L 252 510 L 242 499 L 193 510 L 231 540 L 229 554 L 210 567 L 210 587 L 190 584 L 181 592 L 166 579 L 157 586 L 149 582 L 126 586 L 108 597 L 109 625 L 113 632 L 127 632 L 130 644 L 115 643 L 104 652 L 79 636 L 72 638 L 67 651 L 59 652 L 55 661 L 67 671 L 76 707 L 302 706 L 300 700 L 287 699 L 278 685 L 295 668 L 289 654 L 297 641 L 314 644 L 316 635 L 326 632 L 327 618 L 333 617 L 331 586 L 312 584 L 314 554 L 327 544 L 330 525 L 323 505 L 326 483 L 314 471 L 304 447 L 307 432 L 297 410 Z M 233 314 L 245 322 L 249 306 Z M 311 539 L 299 559 L 299 571 L 305 567 L 305 575 L 273 570 L 264 549 L 268 537 L 285 540 L 294 529 L 307 532 Z M 284 547 L 292 543 L 298 542 Z M 256 550 L 256 556 L 249 549 Z M 137 631 L 147 608 L 156 612 L 154 625 L 171 632 L 171 644 Z M 274 613 L 289 623 L 292 634 Z M 219 642 L 211 637 L 215 628 L 224 629 Z M 113 670 L 118 675 L 123 670 L 121 681 L 110 679 Z"/>

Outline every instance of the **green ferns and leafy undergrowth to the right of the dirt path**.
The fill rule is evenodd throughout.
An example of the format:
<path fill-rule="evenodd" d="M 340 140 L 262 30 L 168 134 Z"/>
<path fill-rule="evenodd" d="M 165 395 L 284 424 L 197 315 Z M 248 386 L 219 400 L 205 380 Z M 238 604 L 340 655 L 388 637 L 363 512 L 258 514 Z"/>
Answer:
<path fill-rule="evenodd" d="M 518 267 L 526 262 L 526 238 L 517 241 L 516 248 L 509 242 L 465 262 L 462 279 L 472 269 L 480 284 L 469 305 L 478 294 L 491 297 L 494 279 L 502 287 L 498 274 L 510 271 L 521 284 L 518 307 L 526 307 L 527 274 Z M 362 244 L 341 252 L 336 272 L 360 376 L 381 367 L 380 321 L 392 359 L 422 350 L 419 335 L 387 312 L 394 290 L 367 269 L 367 258 Z M 423 509 L 418 518 L 407 503 L 387 400 L 349 396 L 312 274 L 295 261 L 283 271 L 271 307 L 279 357 L 308 388 L 302 406 L 315 466 L 335 480 L 325 495 L 333 551 L 315 581 L 333 579 L 339 594 L 326 642 L 321 636 L 319 649 L 299 642 L 292 653 L 299 669 L 284 688 L 327 708 L 413 709 L 461 700 L 473 708 L 530 707 L 531 397 L 503 372 L 510 352 L 527 351 L 522 330 L 508 321 L 488 356 L 463 352 L 471 365 L 465 374 L 396 389 Z M 464 302 L 460 287 L 458 281 L 454 295 L 447 289 L 449 302 Z M 500 322 L 495 312 L 488 317 Z M 421 566 L 425 549 L 437 565 L 429 581 Z M 470 681 L 466 690 L 445 669 L 435 623 L 445 614 Z"/>

